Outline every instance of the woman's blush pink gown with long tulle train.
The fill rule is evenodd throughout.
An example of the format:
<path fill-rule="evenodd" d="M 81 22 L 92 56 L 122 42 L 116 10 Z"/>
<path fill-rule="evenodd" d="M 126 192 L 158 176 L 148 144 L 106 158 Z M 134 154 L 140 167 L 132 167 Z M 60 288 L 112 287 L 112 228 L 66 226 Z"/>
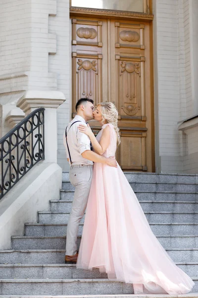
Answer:
<path fill-rule="evenodd" d="M 110 145 L 116 151 L 111 124 Z M 95 163 L 77 268 L 99 268 L 108 278 L 133 284 L 135 294 L 186 294 L 192 279 L 178 268 L 154 236 L 121 168 Z"/>

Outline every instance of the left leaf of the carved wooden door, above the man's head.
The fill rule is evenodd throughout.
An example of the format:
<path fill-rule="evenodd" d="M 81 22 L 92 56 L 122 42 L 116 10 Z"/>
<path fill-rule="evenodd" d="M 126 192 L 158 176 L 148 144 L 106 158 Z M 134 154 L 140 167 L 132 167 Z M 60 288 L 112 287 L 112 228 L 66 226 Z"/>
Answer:
<path fill-rule="evenodd" d="M 79 98 L 101 101 L 102 22 L 72 19 L 72 115 Z"/>

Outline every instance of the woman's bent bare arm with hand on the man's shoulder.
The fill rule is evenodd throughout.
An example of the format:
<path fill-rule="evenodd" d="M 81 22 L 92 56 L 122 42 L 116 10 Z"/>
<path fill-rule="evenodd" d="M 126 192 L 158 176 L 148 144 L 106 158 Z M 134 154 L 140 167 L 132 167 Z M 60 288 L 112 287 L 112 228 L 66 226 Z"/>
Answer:
<path fill-rule="evenodd" d="M 106 149 L 108 148 L 108 146 L 110 144 L 110 129 L 108 126 L 106 126 L 103 129 L 100 142 L 97 141 L 89 124 L 88 124 L 88 127 L 86 127 L 84 125 L 79 125 L 78 129 L 80 132 L 82 132 L 90 137 L 90 141 L 92 142 L 92 146 L 96 153 L 98 153 L 99 155 L 102 155 L 106 151 Z"/>

